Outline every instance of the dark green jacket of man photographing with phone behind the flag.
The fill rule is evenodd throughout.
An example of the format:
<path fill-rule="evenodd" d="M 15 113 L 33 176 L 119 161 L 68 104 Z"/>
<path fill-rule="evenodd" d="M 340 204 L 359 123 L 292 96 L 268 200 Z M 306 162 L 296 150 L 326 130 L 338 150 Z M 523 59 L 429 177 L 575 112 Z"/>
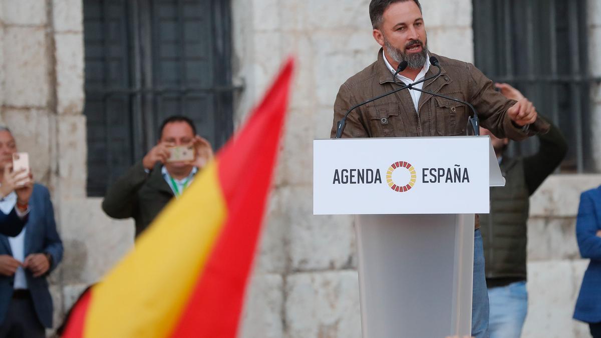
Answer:
<path fill-rule="evenodd" d="M 173 191 L 160 172 L 157 162 L 150 173 L 144 171 L 142 162 L 133 165 L 115 183 L 109 186 L 102 210 L 112 218 L 130 218 L 136 222 L 136 237 L 174 197 Z"/>

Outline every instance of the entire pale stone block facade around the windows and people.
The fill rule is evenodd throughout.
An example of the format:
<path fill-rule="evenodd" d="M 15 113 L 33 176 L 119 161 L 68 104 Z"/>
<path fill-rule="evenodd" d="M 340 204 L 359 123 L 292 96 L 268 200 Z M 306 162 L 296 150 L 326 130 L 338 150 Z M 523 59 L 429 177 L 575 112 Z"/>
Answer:
<path fill-rule="evenodd" d="M 340 85 L 372 63 L 368 0 L 232 0 L 234 125 L 239 126 L 295 55 L 297 70 L 275 187 L 246 295 L 240 337 L 361 337 L 356 244 L 350 216 L 314 216 L 312 141 L 329 138 Z M 423 1 L 430 50 L 473 61 L 471 0 Z M 601 5 L 588 1 L 590 69 L 601 76 Z M 133 222 L 115 221 L 85 191 L 84 28 L 81 0 L 0 0 L 0 119 L 52 191 L 65 245 L 50 277 L 55 324 L 85 287 L 133 244 Z M 601 129 L 601 87 L 591 87 Z M 597 133 L 598 134 L 598 133 Z M 599 136 L 594 144 L 601 144 Z M 601 161 L 601 147 L 593 149 Z M 597 168 L 601 163 L 597 162 Z M 529 315 L 524 337 L 586 337 L 571 319 L 587 261 L 575 215 L 599 175 L 552 176 L 531 198 Z M 551 335 L 550 335 L 551 334 Z"/>

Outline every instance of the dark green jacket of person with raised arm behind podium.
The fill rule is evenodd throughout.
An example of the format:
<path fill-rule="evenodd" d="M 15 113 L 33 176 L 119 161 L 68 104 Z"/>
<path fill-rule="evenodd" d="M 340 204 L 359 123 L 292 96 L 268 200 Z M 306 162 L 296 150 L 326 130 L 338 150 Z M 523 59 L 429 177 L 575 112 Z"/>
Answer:
<path fill-rule="evenodd" d="M 480 215 L 489 287 L 526 280 L 528 199 L 567 152 L 566 140 L 557 127 L 552 125 L 547 134 L 537 137 L 540 147 L 535 155 L 502 156 L 505 186 L 490 188 L 490 214 Z"/>

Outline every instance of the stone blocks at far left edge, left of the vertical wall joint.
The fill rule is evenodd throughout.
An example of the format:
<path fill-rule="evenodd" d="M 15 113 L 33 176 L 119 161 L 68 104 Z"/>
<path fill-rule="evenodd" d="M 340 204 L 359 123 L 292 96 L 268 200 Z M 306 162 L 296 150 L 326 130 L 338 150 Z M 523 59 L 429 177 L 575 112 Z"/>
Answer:
<path fill-rule="evenodd" d="M 4 1 L 0 11 L 2 121 L 13 129 L 19 150 L 31 153 L 34 177 L 47 184 L 56 120 L 48 57 L 52 20 L 46 1 Z"/>

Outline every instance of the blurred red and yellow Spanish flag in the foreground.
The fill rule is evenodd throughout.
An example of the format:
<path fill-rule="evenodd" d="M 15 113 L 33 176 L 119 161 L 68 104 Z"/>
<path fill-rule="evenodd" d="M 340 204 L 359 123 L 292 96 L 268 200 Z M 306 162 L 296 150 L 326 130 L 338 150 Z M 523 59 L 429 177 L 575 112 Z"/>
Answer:
<path fill-rule="evenodd" d="M 236 337 L 293 63 L 135 250 L 80 298 L 63 337 Z"/>

